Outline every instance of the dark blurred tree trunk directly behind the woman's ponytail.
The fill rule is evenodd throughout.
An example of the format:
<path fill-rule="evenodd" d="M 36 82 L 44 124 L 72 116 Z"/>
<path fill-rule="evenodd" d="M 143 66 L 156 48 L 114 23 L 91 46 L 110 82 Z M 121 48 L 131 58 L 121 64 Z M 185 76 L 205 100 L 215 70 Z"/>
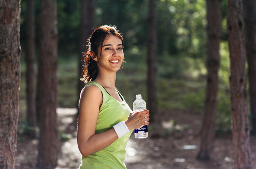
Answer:
<path fill-rule="evenodd" d="M 92 34 L 93 28 L 96 27 L 95 19 L 95 1 L 94 0 L 80 0 L 80 34 L 79 34 L 79 78 L 83 72 L 83 52 L 86 51 L 86 40 Z M 85 84 L 78 79 L 78 96 Z M 80 97 L 78 97 L 79 100 Z"/>

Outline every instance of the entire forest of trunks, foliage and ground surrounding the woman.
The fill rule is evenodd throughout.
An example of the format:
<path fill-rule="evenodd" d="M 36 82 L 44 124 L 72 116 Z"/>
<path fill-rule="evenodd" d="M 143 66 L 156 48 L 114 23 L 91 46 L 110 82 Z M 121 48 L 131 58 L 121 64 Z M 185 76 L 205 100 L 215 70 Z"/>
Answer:
<path fill-rule="evenodd" d="M 141 94 L 151 114 L 149 137 L 128 141 L 127 169 L 256 168 L 255 5 L 1 0 L 0 168 L 79 167 L 82 55 L 101 25 L 124 39 L 116 88 L 131 108 Z"/>

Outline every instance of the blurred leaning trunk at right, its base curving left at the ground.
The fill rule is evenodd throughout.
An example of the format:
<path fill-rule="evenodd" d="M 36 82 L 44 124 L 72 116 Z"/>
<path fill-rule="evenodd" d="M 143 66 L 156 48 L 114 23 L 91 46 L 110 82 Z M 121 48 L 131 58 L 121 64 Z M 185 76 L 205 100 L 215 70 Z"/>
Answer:
<path fill-rule="evenodd" d="M 206 80 L 205 113 L 200 151 L 197 159 L 209 160 L 215 138 L 215 114 L 220 62 L 221 0 L 207 0 L 208 76 Z"/>

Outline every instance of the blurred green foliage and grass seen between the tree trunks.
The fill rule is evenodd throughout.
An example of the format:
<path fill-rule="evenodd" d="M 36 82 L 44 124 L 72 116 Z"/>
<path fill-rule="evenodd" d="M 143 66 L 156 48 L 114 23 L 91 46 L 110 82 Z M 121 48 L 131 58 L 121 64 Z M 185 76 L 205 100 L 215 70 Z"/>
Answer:
<path fill-rule="evenodd" d="M 227 2 L 223 0 L 217 128 L 230 127 L 229 51 Z M 21 1 L 21 94 L 20 111 L 26 110 L 26 1 Z M 35 1 L 36 47 L 39 45 L 39 0 Z M 159 109 L 193 108 L 203 113 L 206 70 L 205 0 L 157 1 L 157 105 Z M 124 38 L 126 64 L 117 72 L 116 87 L 132 107 L 136 93 L 146 100 L 146 50 L 148 0 L 97 0 L 96 27 L 116 25 Z M 57 0 L 58 104 L 77 107 L 80 1 Z M 96 28 L 95 27 L 95 28 Z M 35 71 L 37 71 L 36 50 Z M 21 120 L 21 118 L 20 118 Z"/>

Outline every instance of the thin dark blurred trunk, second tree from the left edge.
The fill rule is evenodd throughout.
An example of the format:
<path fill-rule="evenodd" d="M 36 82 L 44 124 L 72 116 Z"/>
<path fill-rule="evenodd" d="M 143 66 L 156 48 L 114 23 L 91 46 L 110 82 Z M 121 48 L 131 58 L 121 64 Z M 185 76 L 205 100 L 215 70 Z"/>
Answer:
<path fill-rule="evenodd" d="M 26 44 L 26 64 L 27 64 L 27 122 L 31 127 L 30 138 L 36 138 L 36 100 L 35 100 L 35 13 L 34 0 L 27 0 L 27 44 Z"/>

